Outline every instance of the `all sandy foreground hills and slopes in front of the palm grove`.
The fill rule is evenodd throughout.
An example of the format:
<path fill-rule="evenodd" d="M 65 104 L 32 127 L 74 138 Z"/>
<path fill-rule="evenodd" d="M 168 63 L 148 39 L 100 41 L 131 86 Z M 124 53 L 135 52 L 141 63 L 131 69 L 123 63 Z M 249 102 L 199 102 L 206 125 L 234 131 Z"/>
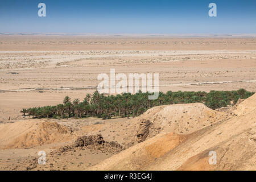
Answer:
<path fill-rule="evenodd" d="M 255 101 L 256 94 L 236 105 L 231 113 L 228 111 L 229 114 L 196 103 L 153 107 L 133 119 L 101 120 L 98 123 L 95 123 L 95 118 L 86 122 L 75 119 L 57 122 L 27 119 L 4 123 L 0 125 L 0 148 L 6 150 L 0 152 L 3 156 L 0 168 L 27 169 L 31 160 L 36 162 L 35 154 L 39 150 L 54 151 L 57 146 L 52 148 L 53 144 L 71 144 L 79 135 L 102 134 L 106 141 L 117 141 L 126 150 L 115 155 L 97 148 L 80 148 L 61 155 L 47 153 L 47 165 L 32 162 L 35 166 L 32 169 L 255 169 Z M 70 127 L 75 129 L 73 133 Z M 24 148 L 28 148 L 27 151 Z M 216 165 L 209 164 L 209 151 L 216 151 Z M 8 152 L 20 156 L 9 160 Z"/>

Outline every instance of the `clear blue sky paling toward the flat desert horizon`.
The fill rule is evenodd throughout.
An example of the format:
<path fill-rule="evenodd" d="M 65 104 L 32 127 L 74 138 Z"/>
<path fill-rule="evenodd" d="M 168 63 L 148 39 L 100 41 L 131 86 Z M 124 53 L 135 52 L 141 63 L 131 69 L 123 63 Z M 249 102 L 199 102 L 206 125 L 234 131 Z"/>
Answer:
<path fill-rule="evenodd" d="M 46 3 L 46 17 L 38 4 Z M 208 5 L 217 5 L 217 17 Z M 256 33 L 256 1 L 0 0 L 0 32 L 106 34 Z"/>

